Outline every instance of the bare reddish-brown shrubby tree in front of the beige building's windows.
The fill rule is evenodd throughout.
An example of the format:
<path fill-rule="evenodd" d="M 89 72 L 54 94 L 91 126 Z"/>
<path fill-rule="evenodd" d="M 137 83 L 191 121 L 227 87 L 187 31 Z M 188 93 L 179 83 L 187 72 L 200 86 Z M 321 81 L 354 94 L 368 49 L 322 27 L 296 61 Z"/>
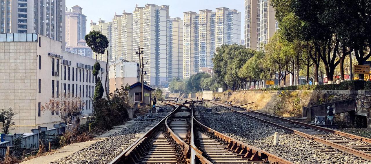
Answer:
<path fill-rule="evenodd" d="M 79 115 L 81 108 L 86 104 L 79 97 L 72 97 L 68 94 L 59 94 L 58 97 L 50 98 L 45 105 L 41 106 L 41 111 L 55 113 L 62 122 L 70 124 L 72 117 Z"/>

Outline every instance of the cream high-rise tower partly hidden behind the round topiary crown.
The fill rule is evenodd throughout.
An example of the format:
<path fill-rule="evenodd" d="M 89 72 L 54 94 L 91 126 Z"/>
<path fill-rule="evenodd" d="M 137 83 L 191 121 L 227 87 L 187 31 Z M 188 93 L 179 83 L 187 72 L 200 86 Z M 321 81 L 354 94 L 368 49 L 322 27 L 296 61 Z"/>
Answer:
<path fill-rule="evenodd" d="M 108 51 L 105 54 L 97 54 L 97 60 L 107 61 L 107 53 L 108 59 L 112 59 L 112 22 L 107 22 L 105 20 L 101 20 L 99 18 L 98 24 L 94 23 L 93 20 L 90 22 L 90 31 L 99 31 L 103 35 L 105 35 L 109 41 L 109 45 L 107 47 Z M 95 59 L 95 53 L 93 52 L 93 58 Z"/>

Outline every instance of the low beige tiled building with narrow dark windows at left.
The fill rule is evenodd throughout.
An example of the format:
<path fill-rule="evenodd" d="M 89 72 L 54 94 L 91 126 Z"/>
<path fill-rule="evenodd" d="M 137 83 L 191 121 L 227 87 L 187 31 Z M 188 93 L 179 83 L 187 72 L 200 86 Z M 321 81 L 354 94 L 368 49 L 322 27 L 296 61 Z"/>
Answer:
<path fill-rule="evenodd" d="M 58 124 L 59 113 L 42 110 L 53 98 L 81 98 L 81 114 L 92 113 L 95 60 L 61 50 L 61 46 L 61 42 L 36 33 L 0 35 L 0 108 L 12 107 L 18 113 L 13 132 Z M 99 76 L 103 81 L 105 74 L 102 68 Z"/>

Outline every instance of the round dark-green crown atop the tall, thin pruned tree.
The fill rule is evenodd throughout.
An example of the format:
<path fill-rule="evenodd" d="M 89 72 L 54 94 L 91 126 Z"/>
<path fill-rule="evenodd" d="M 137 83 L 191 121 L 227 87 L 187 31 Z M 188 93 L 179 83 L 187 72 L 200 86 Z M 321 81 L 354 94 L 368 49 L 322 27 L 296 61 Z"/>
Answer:
<path fill-rule="evenodd" d="M 85 35 L 86 44 L 91 47 L 93 52 L 95 52 L 95 62 L 97 53 L 104 54 L 106 48 L 108 47 L 108 39 L 99 31 L 91 31 L 89 34 Z"/>

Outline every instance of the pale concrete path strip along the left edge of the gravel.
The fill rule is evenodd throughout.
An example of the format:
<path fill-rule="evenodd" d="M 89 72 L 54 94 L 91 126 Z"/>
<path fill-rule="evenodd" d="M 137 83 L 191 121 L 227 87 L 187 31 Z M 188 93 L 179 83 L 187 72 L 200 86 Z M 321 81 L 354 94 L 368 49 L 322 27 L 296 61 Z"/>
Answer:
<path fill-rule="evenodd" d="M 118 125 L 112 127 L 111 130 L 104 132 L 103 134 L 95 137 L 93 140 L 86 141 L 86 142 L 79 142 L 67 145 L 65 147 L 60 148 L 59 150 L 56 150 L 53 152 L 53 154 L 50 155 L 43 155 L 40 157 L 33 158 L 31 160 L 24 161 L 20 164 L 50 164 L 52 162 L 58 161 L 60 158 L 65 158 L 68 155 L 73 154 L 76 151 L 82 150 L 83 148 L 89 147 L 90 145 L 94 144 L 98 141 L 105 140 L 109 135 L 115 134 L 116 132 L 121 131 L 124 128 L 127 128 L 129 125 L 134 124 L 135 121 L 127 121 L 124 123 L 124 125 Z"/>

